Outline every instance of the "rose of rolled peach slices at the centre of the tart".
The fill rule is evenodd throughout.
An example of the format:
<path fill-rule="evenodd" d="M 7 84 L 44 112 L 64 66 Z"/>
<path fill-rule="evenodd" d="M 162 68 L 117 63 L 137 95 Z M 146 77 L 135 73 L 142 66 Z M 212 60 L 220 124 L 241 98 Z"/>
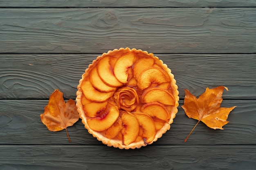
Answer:
<path fill-rule="evenodd" d="M 139 97 L 134 88 L 122 87 L 117 90 L 114 99 L 119 108 L 131 112 L 139 104 Z"/>

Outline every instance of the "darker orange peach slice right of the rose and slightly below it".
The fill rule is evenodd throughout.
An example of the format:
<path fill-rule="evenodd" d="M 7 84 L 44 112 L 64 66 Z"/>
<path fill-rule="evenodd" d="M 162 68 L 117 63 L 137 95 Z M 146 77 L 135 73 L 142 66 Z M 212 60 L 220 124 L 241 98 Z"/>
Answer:
<path fill-rule="evenodd" d="M 158 102 L 151 102 L 144 104 L 141 107 L 141 112 L 150 115 L 151 117 L 157 117 L 164 121 L 168 121 L 169 113 L 165 106 Z"/>

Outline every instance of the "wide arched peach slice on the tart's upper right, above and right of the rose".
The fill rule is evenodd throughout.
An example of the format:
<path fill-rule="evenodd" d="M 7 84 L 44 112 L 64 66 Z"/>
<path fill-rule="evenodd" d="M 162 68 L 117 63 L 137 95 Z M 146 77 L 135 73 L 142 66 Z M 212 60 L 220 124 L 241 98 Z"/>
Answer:
<path fill-rule="evenodd" d="M 169 75 L 160 68 L 150 67 L 139 75 L 137 85 L 141 90 L 144 90 L 152 83 L 162 84 L 164 82 L 171 82 Z"/>

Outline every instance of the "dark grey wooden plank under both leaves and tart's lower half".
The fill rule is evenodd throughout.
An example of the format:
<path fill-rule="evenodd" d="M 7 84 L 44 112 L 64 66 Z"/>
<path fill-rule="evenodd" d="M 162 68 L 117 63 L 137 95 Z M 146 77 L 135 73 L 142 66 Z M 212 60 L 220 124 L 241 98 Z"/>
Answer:
<path fill-rule="evenodd" d="M 81 119 L 66 131 L 51 132 L 40 120 L 47 100 L 0 100 L 0 145 L 103 145 L 92 137 Z M 180 101 L 180 106 L 183 101 Z M 152 145 L 255 145 L 256 100 L 223 100 L 222 107 L 237 106 L 229 114 L 224 130 L 213 130 L 199 123 L 187 142 L 184 139 L 197 123 L 179 106 L 171 129 Z"/>

